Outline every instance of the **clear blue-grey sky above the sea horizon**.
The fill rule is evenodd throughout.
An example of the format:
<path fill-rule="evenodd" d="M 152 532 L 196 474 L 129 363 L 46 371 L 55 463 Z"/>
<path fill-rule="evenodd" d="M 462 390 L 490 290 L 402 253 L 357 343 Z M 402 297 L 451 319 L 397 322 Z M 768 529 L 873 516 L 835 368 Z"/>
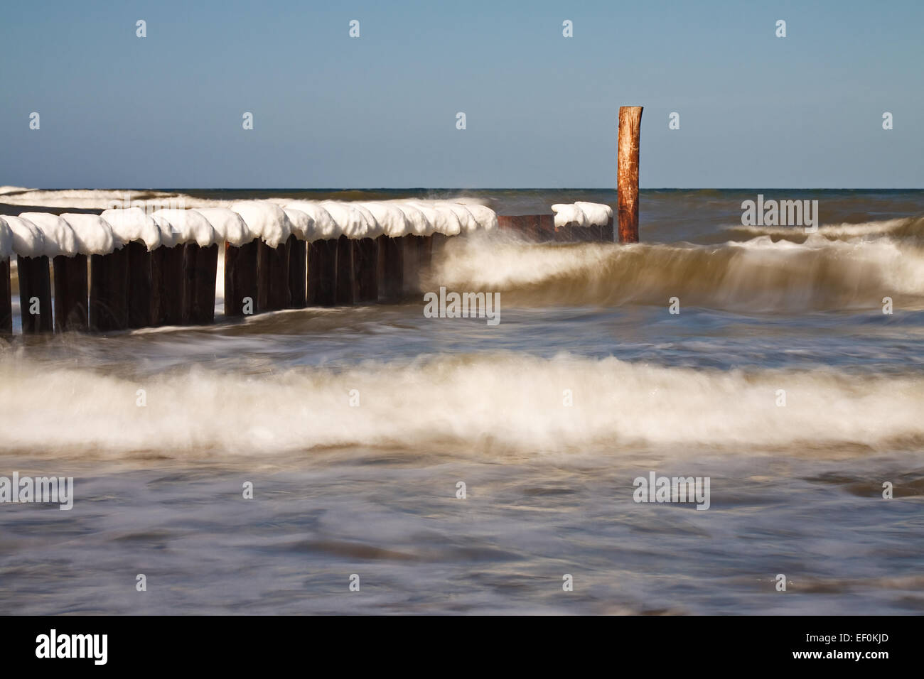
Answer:
<path fill-rule="evenodd" d="M 7 4 L 0 184 L 605 188 L 640 104 L 642 188 L 922 188 L 922 25 L 919 2 Z"/>

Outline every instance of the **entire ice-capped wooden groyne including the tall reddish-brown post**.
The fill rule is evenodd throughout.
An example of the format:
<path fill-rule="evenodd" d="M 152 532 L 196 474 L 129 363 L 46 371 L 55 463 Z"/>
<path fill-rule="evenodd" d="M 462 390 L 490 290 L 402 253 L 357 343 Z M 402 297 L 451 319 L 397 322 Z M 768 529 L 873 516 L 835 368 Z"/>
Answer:
<path fill-rule="evenodd" d="M 220 244 L 225 316 L 240 318 L 416 297 L 434 251 L 477 230 L 537 243 L 612 243 L 617 235 L 637 242 L 641 111 L 619 110 L 615 219 L 595 203 L 495 215 L 475 203 L 435 200 L 243 201 L 231 209 L 0 218 L 0 335 L 13 332 L 13 257 L 23 334 L 109 333 L 213 323 Z"/>

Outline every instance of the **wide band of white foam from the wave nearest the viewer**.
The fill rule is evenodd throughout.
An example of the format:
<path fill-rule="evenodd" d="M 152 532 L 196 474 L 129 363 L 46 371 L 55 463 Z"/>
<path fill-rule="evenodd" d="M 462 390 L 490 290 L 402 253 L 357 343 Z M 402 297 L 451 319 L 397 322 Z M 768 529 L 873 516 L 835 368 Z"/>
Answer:
<path fill-rule="evenodd" d="M 126 397 L 140 388 L 144 408 Z M 349 406 L 349 389 L 362 394 L 361 408 Z M 574 394 L 571 407 L 562 406 L 565 389 Z M 786 407 L 774 406 L 778 389 Z M 616 358 L 476 355 L 263 376 L 190 369 L 141 382 L 0 358 L 0 448 L 50 455 L 252 457 L 391 445 L 484 456 L 637 445 L 886 450 L 924 442 L 922 408 L 924 382 L 910 377 L 666 368 Z"/>

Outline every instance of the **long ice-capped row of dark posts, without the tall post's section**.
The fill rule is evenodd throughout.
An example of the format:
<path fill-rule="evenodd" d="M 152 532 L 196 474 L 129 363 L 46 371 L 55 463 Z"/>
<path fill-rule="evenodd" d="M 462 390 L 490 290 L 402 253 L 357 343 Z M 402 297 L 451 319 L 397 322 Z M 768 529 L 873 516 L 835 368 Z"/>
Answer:
<path fill-rule="evenodd" d="M 41 212 L 38 225 L 20 215 L 9 218 L 15 228 L 4 221 L 0 231 L 9 256 L 21 258 L 25 292 L 48 288 L 44 304 L 29 297 L 34 303 L 27 310 L 39 317 L 37 327 L 52 322 L 42 321 L 43 311 L 52 308 L 50 285 L 43 286 L 41 275 L 43 263 L 49 266 L 31 260 L 48 257 L 55 258 L 58 282 L 56 325 L 110 331 L 213 321 L 221 242 L 225 312 L 234 316 L 249 309 L 298 308 L 307 301 L 396 300 L 403 290 L 419 288 L 434 238 L 444 243 L 448 236 L 497 226 L 496 215 L 474 202 L 325 200 L 282 207 L 284 202 L 245 200 L 230 210 L 167 209 L 152 215 L 138 207 L 103 215 Z M 36 275 L 30 275 L 33 269 Z M 80 283 L 84 270 L 90 273 L 89 290 Z M 27 332 L 32 321 L 27 319 Z"/>

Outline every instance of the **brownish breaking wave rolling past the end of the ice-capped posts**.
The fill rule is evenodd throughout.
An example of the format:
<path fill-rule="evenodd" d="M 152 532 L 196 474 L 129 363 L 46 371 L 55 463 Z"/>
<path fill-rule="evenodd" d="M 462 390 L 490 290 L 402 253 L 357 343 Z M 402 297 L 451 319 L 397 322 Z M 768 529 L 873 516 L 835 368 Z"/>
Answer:
<path fill-rule="evenodd" d="M 921 224 L 896 222 L 902 224 L 876 228 Z M 667 306 L 678 297 L 681 305 L 744 312 L 879 309 L 883 297 L 892 297 L 896 308 L 924 309 L 924 248 L 900 238 L 839 240 L 825 233 L 802 242 L 765 234 L 717 245 L 536 246 L 468 238 L 447 245 L 426 285 L 499 291 L 508 308 Z"/>

